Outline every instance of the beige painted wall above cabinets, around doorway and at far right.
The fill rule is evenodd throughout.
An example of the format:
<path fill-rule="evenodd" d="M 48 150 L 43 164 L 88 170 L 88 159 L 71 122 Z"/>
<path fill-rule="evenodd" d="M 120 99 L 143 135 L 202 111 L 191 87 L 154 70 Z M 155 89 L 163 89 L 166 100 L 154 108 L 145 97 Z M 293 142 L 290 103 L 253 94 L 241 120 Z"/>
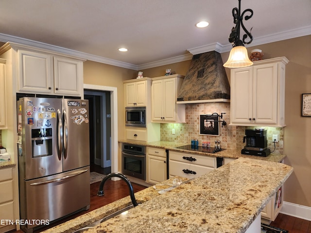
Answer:
<path fill-rule="evenodd" d="M 294 173 L 285 185 L 284 200 L 311 207 L 311 117 L 302 117 L 301 94 L 311 93 L 311 35 L 289 40 L 249 47 L 260 49 L 263 59 L 285 56 L 290 60 L 286 66 L 284 163 L 294 167 Z M 223 53 L 225 61 L 229 53 Z M 166 66 L 145 69 L 144 77 L 158 77 L 166 68 L 185 75 L 190 60 Z M 226 69 L 228 78 L 229 69 Z M 84 64 L 85 83 L 118 88 L 119 139 L 124 135 L 123 80 L 136 78 L 137 71 L 87 61 Z M 229 78 L 230 79 L 230 78 Z"/>

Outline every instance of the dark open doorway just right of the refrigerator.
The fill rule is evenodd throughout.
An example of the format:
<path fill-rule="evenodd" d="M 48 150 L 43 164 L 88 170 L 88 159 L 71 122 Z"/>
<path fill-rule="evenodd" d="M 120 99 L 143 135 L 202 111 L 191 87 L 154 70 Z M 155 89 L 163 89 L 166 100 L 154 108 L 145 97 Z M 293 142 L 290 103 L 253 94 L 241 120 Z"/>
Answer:
<path fill-rule="evenodd" d="M 90 165 L 111 173 L 111 107 L 110 92 L 85 90 L 84 99 L 89 101 Z"/>

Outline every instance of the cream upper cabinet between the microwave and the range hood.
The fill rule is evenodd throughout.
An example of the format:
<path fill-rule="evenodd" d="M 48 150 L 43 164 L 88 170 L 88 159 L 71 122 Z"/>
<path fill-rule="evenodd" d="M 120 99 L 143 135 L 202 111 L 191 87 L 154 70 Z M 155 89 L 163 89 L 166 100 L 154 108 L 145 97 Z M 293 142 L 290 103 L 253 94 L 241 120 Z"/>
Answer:
<path fill-rule="evenodd" d="M 152 121 L 185 123 L 185 104 L 177 104 L 184 76 L 174 74 L 152 79 Z"/>

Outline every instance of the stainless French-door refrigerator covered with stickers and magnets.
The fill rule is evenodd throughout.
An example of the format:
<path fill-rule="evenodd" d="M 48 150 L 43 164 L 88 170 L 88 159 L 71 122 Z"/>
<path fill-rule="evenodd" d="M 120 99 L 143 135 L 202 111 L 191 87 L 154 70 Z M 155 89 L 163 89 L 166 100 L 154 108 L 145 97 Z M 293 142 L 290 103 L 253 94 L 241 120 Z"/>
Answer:
<path fill-rule="evenodd" d="M 88 100 L 21 98 L 17 136 L 21 229 L 89 209 Z"/>

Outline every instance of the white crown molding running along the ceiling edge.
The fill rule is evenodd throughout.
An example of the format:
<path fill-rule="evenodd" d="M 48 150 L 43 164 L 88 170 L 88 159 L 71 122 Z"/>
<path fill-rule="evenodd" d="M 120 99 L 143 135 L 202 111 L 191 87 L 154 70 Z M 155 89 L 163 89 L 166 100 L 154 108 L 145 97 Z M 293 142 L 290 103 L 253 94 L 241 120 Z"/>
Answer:
<path fill-rule="evenodd" d="M 266 36 L 257 37 L 252 42 L 252 45 L 248 45 L 245 47 L 257 46 L 257 45 L 272 43 L 272 42 L 286 40 L 286 39 L 292 39 L 295 37 L 300 37 L 300 36 L 305 36 L 305 35 L 310 35 L 310 34 L 311 34 L 311 25 L 306 26 L 306 27 L 297 28 L 294 30 L 281 32 L 281 33 L 274 33 L 274 34 L 270 34 L 270 35 L 266 35 Z M 66 49 L 63 47 L 49 45 L 49 44 L 45 44 L 42 42 L 29 40 L 29 39 L 25 39 L 25 38 L 21 38 L 21 37 L 17 37 L 17 36 L 2 34 L 2 33 L 0 33 L 0 41 L 2 41 L 2 42 L 8 42 L 9 41 L 9 42 L 18 43 L 18 44 L 34 46 L 34 47 L 37 47 L 40 49 L 57 51 L 57 52 L 67 54 L 70 56 L 80 57 L 81 59 L 90 60 L 90 61 L 99 62 L 99 63 L 104 63 L 107 65 L 116 66 L 116 67 L 133 69 L 133 70 L 141 70 L 141 69 L 165 66 L 165 65 L 169 65 L 169 64 L 173 64 L 173 63 L 177 63 L 177 62 L 182 62 L 182 61 L 188 61 L 188 60 L 192 59 L 192 55 L 199 54 L 199 53 L 204 53 L 204 52 L 209 52 L 209 51 L 214 51 L 214 50 L 219 52 L 219 53 L 223 53 L 223 52 L 230 51 L 232 49 L 231 44 L 222 45 L 222 44 L 216 42 L 213 44 L 188 49 L 190 54 L 171 57 L 171 58 L 158 60 L 158 61 L 150 62 L 150 63 L 145 63 L 145 64 L 141 64 L 141 65 L 134 65 L 134 64 L 130 64 L 130 63 L 125 63 L 125 62 L 120 62 L 117 60 L 109 59 L 106 57 L 101 57 L 101 56 L 97 56 L 97 55 L 93 55 L 93 54 L 89 54 L 89 53 L 85 53 L 85 52 L 80 52 L 80 51 L 76 51 L 76 50 L 70 50 L 70 49 Z"/>

